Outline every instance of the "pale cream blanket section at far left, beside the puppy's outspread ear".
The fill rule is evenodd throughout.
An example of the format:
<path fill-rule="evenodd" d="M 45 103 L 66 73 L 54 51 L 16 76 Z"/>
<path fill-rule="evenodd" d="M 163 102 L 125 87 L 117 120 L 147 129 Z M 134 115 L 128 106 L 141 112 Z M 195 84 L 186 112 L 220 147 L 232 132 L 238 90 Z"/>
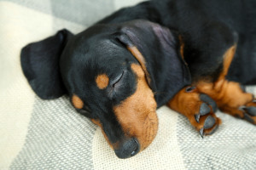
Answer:
<path fill-rule="evenodd" d="M 20 67 L 20 49 L 63 27 L 78 32 L 84 26 L 6 1 L 0 1 L 0 20 L 0 168 L 5 168 L 22 150 L 34 107 L 35 94 Z"/>

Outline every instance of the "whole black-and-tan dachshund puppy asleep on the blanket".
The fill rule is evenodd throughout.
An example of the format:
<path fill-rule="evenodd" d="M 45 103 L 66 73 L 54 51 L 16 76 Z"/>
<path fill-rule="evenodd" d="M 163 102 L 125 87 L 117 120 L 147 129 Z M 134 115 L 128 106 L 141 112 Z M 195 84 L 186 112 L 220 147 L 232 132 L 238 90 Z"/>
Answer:
<path fill-rule="evenodd" d="M 153 141 L 156 109 L 168 105 L 203 137 L 217 107 L 256 124 L 255 1 L 162 0 L 122 8 L 77 35 L 61 30 L 21 51 L 42 99 L 70 96 L 102 128 L 119 158 Z"/>

